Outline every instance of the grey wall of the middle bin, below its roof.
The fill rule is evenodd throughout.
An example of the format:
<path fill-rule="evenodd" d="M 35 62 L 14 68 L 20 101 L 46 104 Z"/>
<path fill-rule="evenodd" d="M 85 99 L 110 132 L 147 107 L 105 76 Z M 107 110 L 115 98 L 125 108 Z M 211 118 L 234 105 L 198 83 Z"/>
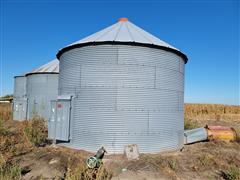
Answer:
<path fill-rule="evenodd" d="M 41 116 L 48 120 L 51 100 L 57 99 L 58 74 L 27 76 L 28 119 Z"/>

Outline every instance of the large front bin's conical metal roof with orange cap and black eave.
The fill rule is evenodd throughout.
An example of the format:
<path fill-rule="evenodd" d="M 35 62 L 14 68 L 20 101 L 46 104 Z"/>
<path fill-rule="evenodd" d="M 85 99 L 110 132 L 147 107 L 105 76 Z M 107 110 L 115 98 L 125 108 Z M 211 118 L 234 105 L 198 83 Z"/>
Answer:
<path fill-rule="evenodd" d="M 173 51 L 176 54 L 182 56 L 187 62 L 187 56 L 180 50 L 146 32 L 142 28 L 134 25 L 128 21 L 127 18 L 120 18 L 117 23 L 66 46 L 58 52 L 57 57 L 59 59 L 64 52 L 76 47 L 109 43 L 145 45 L 149 47 Z"/>

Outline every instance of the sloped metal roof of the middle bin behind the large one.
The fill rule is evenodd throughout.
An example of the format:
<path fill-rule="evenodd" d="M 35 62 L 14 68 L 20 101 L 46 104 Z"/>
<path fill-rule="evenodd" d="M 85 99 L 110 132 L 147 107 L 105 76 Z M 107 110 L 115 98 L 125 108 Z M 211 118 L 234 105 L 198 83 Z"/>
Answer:
<path fill-rule="evenodd" d="M 44 74 L 44 73 L 53 73 L 53 74 L 59 73 L 58 59 L 54 59 L 54 60 L 48 62 L 47 64 L 40 66 L 39 68 L 33 69 L 32 71 L 26 73 L 26 76 L 30 75 L 30 74 L 41 74 L 41 73 L 42 74 Z"/>

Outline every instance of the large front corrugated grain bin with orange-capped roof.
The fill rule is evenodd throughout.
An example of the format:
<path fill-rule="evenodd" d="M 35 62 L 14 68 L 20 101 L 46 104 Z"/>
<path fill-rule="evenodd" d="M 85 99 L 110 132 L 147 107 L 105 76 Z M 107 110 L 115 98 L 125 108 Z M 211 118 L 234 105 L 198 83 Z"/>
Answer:
<path fill-rule="evenodd" d="M 57 57 L 51 138 L 88 151 L 103 145 L 110 153 L 129 144 L 143 153 L 183 146 L 187 57 L 181 51 L 121 18 Z"/>

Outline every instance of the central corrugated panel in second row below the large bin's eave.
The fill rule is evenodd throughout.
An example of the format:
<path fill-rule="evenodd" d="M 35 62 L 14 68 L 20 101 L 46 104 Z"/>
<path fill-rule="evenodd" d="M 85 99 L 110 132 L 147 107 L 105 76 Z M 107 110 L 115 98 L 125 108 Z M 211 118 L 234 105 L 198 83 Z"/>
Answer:
<path fill-rule="evenodd" d="M 154 67 L 135 65 L 82 65 L 81 86 L 154 88 Z"/>

